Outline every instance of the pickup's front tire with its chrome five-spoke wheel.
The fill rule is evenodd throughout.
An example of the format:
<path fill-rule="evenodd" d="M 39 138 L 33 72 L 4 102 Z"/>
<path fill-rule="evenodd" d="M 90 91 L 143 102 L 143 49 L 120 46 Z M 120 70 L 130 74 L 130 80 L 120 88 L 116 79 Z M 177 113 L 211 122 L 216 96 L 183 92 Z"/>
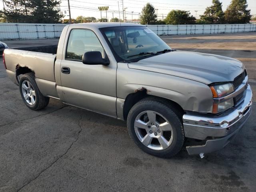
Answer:
<path fill-rule="evenodd" d="M 184 143 L 184 130 L 178 114 L 178 110 L 167 102 L 143 99 L 128 114 L 128 132 L 144 152 L 170 158 L 181 150 Z"/>

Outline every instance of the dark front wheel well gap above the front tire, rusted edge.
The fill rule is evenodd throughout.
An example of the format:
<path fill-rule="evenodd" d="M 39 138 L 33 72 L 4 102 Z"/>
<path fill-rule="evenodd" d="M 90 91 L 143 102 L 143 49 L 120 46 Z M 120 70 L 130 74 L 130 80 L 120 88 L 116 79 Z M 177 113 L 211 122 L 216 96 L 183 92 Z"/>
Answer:
<path fill-rule="evenodd" d="M 140 90 L 136 90 L 135 93 L 131 93 L 126 97 L 126 99 L 124 101 L 124 109 L 123 109 L 124 120 L 127 119 L 127 116 L 129 114 L 132 106 L 134 106 L 137 102 L 139 102 L 140 100 L 142 100 L 144 98 L 158 99 L 162 102 L 172 105 L 179 113 L 179 114 L 177 114 L 179 116 L 179 118 L 182 118 L 183 114 L 185 114 L 182 107 L 179 104 L 177 104 L 176 102 L 166 99 L 166 98 L 148 95 L 147 92 L 148 92 L 148 90 L 146 90 L 146 88 L 142 88 Z"/>

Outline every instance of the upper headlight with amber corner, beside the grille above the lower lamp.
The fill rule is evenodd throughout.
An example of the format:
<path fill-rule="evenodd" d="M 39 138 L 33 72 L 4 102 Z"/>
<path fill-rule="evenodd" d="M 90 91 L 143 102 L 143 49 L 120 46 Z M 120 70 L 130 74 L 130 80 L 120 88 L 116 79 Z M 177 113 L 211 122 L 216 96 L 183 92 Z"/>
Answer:
<path fill-rule="evenodd" d="M 210 86 L 212 90 L 212 95 L 214 98 L 224 97 L 234 91 L 233 85 L 231 83 L 227 84 L 213 84 Z"/>

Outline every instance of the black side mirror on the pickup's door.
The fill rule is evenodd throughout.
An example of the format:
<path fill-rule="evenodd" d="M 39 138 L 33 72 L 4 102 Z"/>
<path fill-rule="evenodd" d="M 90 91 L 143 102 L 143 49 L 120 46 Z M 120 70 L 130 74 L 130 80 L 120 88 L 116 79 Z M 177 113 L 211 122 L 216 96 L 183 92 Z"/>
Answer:
<path fill-rule="evenodd" d="M 109 60 L 102 58 L 99 51 L 88 51 L 82 56 L 83 64 L 87 65 L 108 65 Z"/>

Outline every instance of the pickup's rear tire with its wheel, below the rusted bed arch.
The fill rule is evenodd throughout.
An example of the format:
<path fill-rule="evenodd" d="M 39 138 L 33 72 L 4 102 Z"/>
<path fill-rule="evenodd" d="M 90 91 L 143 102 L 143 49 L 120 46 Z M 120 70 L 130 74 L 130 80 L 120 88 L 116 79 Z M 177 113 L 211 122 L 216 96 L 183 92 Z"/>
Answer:
<path fill-rule="evenodd" d="M 28 108 L 36 111 L 48 105 L 50 98 L 42 95 L 32 72 L 22 75 L 19 86 L 22 100 Z"/>

